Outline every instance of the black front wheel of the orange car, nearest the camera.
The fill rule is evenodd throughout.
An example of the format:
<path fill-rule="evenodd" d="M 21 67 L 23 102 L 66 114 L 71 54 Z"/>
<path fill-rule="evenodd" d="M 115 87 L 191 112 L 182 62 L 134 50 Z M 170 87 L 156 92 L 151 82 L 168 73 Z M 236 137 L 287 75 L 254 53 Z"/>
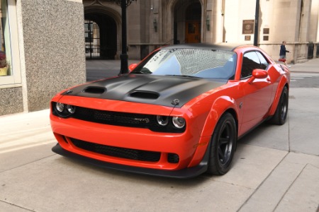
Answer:
<path fill-rule="evenodd" d="M 237 127 L 232 114 L 226 112 L 211 137 L 211 155 L 207 172 L 224 175 L 230 170 L 237 142 Z"/>

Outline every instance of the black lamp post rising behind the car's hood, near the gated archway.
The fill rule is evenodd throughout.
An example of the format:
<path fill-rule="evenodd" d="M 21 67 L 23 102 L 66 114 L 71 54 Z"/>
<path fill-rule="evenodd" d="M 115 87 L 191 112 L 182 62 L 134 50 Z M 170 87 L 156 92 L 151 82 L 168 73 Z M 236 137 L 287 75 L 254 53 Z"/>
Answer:
<path fill-rule="evenodd" d="M 126 31 L 126 8 L 132 4 L 133 1 L 138 0 L 108 0 L 115 1 L 116 4 L 122 8 L 122 52 L 121 52 L 121 70 L 119 75 L 123 73 L 128 73 L 128 50 L 127 48 L 127 31 Z"/>

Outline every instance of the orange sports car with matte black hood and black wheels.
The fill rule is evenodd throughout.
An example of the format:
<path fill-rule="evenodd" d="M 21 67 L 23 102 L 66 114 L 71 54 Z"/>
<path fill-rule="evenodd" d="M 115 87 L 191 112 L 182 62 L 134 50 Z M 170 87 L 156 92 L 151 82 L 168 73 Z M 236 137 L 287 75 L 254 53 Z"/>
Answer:
<path fill-rule="evenodd" d="M 131 67 L 52 98 L 52 151 L 146 175 L 223 175 L 237 139 L 286 121 L 289 69 L 258 47 L 173 45 Z"/>

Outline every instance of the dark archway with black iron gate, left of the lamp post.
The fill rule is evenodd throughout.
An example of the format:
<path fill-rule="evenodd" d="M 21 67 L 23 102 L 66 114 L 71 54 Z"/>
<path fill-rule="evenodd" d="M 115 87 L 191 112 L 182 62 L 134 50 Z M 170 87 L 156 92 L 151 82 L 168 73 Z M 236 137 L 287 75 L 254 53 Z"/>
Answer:
<path fill-rule="evenodd" d="M 114 59 L 117 51 L 116 22 L 103 13 L 84 15 L 86 59 Z"/>

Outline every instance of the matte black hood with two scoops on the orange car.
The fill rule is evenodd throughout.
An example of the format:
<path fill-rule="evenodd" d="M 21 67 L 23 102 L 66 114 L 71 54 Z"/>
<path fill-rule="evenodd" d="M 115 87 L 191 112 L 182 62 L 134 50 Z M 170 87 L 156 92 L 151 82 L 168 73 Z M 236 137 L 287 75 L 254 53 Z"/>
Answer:
<path fill-rule="evenodd" d="M 63 95 L 181 107 L 223 84 L 203 78 L 126 74 L 77 86 Z"/>

